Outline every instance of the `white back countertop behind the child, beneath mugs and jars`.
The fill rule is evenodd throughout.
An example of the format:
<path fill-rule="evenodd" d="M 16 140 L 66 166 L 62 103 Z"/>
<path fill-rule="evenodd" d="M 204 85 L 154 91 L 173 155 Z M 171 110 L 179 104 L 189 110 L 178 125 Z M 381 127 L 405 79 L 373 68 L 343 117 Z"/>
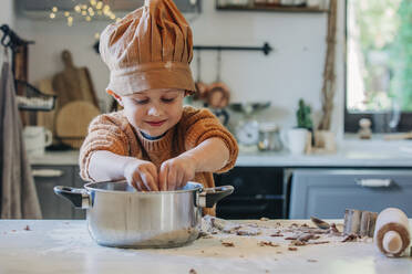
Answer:
<path fill-rule="evenodd" d="M 30 157 L 32 165 L 78 165 L 79 151 L 53 151 Z M 331 155 L 291 155 L 287 150 L 258 151 L 240 148 L 237 167 L 354 167 L 354 168 L 410 168 L 412 141 L 384 141 L 348 139 L 339 144 Z"/>

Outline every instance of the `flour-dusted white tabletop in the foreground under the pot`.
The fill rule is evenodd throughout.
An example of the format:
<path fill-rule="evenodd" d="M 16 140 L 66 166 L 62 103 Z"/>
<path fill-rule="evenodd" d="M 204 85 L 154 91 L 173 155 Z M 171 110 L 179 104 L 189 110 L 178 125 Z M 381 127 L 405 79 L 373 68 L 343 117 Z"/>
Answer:
<path fill-rule="evenodd" d="M 123 250 L 97 245 L 83 220 L 0 220 L 0 273 L 412 273 L 410 257 L 385 257 L 371 241 L 330 240 L 290 251 L 282 240 L 271 236 L 279 245 L 269 246 L 259 244 L 268 241 L 261 235 L 226 235 L 177 249 Z"/>

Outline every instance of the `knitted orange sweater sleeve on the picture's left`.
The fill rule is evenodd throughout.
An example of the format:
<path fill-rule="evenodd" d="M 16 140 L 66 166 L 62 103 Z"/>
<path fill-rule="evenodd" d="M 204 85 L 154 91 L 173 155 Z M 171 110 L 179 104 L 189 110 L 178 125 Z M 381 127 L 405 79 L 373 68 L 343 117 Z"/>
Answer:
<path fill-rule="evenodd" d="M 89 125 L 87 136 L 80 148 L 80 176 L 85 181 L 93 181 L 89 165 L 94 151 L 107 150 L 127 156 L 130 145 L 127 134 L 123 130 L 122 120 L 113 115 L 100 115 Z"/>

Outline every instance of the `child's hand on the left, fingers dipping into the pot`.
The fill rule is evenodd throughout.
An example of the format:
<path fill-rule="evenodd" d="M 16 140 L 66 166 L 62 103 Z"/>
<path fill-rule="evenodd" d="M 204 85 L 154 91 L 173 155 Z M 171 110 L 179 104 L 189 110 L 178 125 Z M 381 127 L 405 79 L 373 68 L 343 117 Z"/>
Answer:
<path fill-rule="evenodd" d="M 158 191 L 157 168 L 150 161 L 134 159 L 127 162 L 124 178 L 137 191 Z"/>

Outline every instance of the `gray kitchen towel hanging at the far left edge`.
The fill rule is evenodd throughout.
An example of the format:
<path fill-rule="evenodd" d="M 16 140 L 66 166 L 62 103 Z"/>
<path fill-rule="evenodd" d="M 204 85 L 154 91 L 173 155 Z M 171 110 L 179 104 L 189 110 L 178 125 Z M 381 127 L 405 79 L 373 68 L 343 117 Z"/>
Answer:
<path fill-rule="evenodd" d="M 34 179 L 25 154 L 7 50 L 0 75 L 1 219 L 41 219 Z"/>

